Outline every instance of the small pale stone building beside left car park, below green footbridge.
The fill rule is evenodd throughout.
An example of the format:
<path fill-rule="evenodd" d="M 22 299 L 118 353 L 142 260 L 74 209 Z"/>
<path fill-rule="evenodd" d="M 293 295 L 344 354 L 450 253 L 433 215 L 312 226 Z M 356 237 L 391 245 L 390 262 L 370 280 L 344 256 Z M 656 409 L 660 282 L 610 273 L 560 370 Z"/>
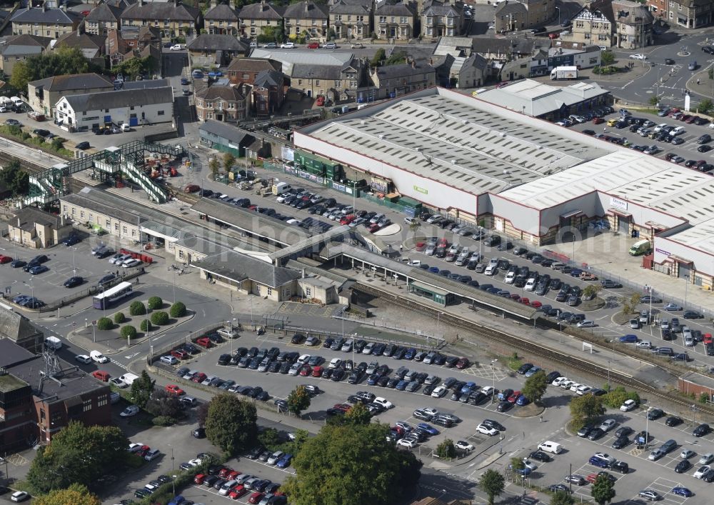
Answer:
<path fill-rule="evenodd" d="M 29 249 L 56 246 L 72 232 L 72 225 L 64 217 L 34 207 L 24 207 L 7 222 L 9 239 Z"/>

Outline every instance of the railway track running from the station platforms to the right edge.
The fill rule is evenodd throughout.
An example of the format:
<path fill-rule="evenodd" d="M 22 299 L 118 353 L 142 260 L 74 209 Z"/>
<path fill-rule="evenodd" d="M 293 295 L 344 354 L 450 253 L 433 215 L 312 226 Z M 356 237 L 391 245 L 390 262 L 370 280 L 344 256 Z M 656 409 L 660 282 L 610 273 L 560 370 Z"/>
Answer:
<path fill-rule="evenodd" d="M 368 286 L 366 284 L 358 282 L 355 287 L 356 289 L 358 289 L 358 291 L 363 291 L 366 294 L 371 294 L 373 296 L 379 296 L 382 299 L 387 299 L 392 304 L 402 306 L 405 309 L 417 310 L 422 313 L 431 314 L 434 317 L 436 317 L 437 314 L 440 314 L 439 317 L 441 318 L 442 323 L 451 324 L 453 326 L 457 326 L 458 328 L 471 331 L 472 333 L 491 341 L 498 341 L 501 344 L 505 344 L 506 346 L 512 347 L 514 350 L 523 351 L 533 356 L 538 356 L 539 358 L 543 359 L 544 361 L 548 361 L 549 363 L 563 364 L 564 366 L 568 366 L 569 368 L 578 369 L 579 371 L 585 371 L 602 379 L 608 379 L 609 377 L 610 381 L 622 384 L 623 386 L 628 386 L 633 389 L 638 389 L 639 391 L 646 392 L 650 397 L 655 396 L 659 399 L 663 399 L 678 406 L 681 406 L 683 407 L 683 411 L 689 411 L 690 406 L 692 404 L 691 400 L 684 399 L 675 394 L 667 394 L 666 392 L 661 391 L 660 389 L 656 389 L 655 387 L 650 386 L 649 384 L 643 381 L 635 379 L 633 376 L 623 374 L 619 371 L 614 371 L 612 369 L 608 370 L 607 368 L 599 366 L 598 364 L 594 364 L 585 359 L 580 359 L 578 358 L 578 356 L 564 354 L 554 349 L 535 344 L 532 341 L 522 339 L 521 337 L 518 337 L 516 335 L 507 334 L 502 331 L 490 329 L 486 326 L 480 326 L 478 324 L 472 323 L 471 321 L 467 321 L 466 319 L 461 319 L 459 317 L 452 316 L 451 314 L 445 314 L 443 311 L 439 311 L 438 309 L 435 309 L 426 304 L 421 304 L 418 301 L 404 299 L 403 297 L 393 295 L 386 291 L 381 291 L 375 286 Z M 657 364 L 654 365 L 656 366 Z M 708 406 L 699 404 L 698 409 L 706 411 L 710 415 L 714 415 L 714 409 L 710 409 L 708 408 Z"/>

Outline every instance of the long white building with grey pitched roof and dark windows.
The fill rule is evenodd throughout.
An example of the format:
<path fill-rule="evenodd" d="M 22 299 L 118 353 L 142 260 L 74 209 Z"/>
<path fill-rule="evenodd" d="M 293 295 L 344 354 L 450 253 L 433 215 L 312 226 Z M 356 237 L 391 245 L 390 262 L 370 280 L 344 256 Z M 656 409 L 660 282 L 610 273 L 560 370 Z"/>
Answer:
<path fill-rule="evenodd" d="M 165 86 L 63 96 L 57 102 L 55 120 L 76 129 L 94 129 L 106 123 L 137 126 L 171 122 L 174 90 Z"/>

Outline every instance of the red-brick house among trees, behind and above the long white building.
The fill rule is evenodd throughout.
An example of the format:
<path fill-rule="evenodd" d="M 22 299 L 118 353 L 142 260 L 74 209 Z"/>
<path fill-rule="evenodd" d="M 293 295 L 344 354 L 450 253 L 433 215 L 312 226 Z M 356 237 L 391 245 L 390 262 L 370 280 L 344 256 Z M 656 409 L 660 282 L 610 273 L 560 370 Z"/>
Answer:
<path fill-rule="evenodd" d="M 131 58 L 151 57 L 154 74 L 162 75 L 161 30 L 154 26 L 122 26 L 109 30 L 106 36 L 107 54 L 111 66 Z"/>

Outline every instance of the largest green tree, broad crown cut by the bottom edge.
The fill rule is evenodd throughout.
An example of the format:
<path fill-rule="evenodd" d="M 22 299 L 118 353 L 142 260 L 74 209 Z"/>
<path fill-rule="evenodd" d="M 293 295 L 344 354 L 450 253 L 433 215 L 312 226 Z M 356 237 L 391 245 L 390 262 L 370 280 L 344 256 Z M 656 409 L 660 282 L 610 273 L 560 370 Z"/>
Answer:
<path fill-rule="evenodd" d="M 323 426 L 320 433 L 304 441 L 293 460 L 297 475 L 282 486 L 291 504 L 386 505 L 401 501 L 418 481 L 421 461 L 388 441 L 388 429 L 386 424 L 375 423 Z"/>

